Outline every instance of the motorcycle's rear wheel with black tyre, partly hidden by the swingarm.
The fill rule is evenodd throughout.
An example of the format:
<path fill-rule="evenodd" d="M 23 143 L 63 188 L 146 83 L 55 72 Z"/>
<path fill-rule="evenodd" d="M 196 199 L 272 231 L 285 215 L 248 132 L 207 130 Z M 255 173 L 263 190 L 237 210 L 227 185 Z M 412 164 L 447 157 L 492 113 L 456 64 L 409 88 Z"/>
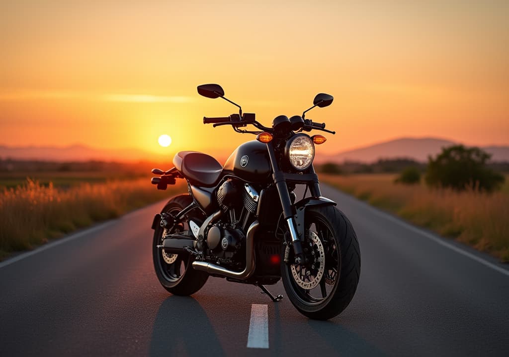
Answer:
<path fill-rule="evenodd" d="M 169 200 L 162 212 L 176 215 L 191 204 L 192 198 L 188 194 L 181 194 Z M 174 295 L 191 295 L 200 290 L 207 281 L 209 275 L 205 272 L 192 269 L 192 257 L 187 254 L 169 254 L 157 248 L 163 241 L 163 234 L 175 234 L 189 230 L 189 217 L 185 221 L 176 224 L 171 232 L 164 232 L 161 226 L 157 226 L 152 242 L 152 257 L 157 278 L 161 285 Z"/>

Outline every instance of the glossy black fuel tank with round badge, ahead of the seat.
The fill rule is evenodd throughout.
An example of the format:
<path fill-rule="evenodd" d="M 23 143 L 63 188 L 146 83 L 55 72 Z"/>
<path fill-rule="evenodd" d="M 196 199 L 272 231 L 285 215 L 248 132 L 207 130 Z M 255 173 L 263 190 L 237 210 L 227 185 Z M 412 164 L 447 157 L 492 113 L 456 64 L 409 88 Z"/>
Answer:
<path fill-rule="evenodd" d="M 256 140 L 240 145 L 223 167 L 223 175 L 235 175 L 248 182 L 266 182 L 270 174 L 267 145 Z"/>

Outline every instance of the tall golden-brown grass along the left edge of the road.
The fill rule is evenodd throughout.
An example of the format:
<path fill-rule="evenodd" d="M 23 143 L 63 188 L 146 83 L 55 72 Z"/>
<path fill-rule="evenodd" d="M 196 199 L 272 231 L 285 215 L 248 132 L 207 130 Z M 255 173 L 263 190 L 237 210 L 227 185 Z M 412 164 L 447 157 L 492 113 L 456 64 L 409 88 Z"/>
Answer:
<path fill-rule="evenodd" d="M 0 188 L 0 260 L 181 191 L 184 181 L 161 191 L 147 178 L 68 188 L 28 179 L 22 186 Z"/>

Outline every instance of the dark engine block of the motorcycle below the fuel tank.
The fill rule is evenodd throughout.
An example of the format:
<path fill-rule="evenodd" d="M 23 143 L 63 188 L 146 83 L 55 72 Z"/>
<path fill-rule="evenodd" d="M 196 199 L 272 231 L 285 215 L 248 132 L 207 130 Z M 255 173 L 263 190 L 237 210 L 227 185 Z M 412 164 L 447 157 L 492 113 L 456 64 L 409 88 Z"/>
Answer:
<path fill-rule="evenodd" d="M 229 179 L 217 190 L 223 217 L 207 231 L 207 258 L 216 263 L 245 264 L 245 233 L 254 220 L 259 194 L 241 181 Z"/>

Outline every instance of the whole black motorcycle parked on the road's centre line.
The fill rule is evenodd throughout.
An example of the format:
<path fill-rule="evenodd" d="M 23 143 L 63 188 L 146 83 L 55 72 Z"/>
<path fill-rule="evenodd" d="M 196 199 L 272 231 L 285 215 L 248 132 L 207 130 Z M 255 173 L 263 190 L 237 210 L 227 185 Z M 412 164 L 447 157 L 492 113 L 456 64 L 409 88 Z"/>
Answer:
<path fill-rule="evenodd" d="M 320 93 L 313 107 L 288 118 L 277 116 L 266 127 L 252 113 L 224 98 L 218 84 L 198 93 L 222 98 L 239 107 L 238 114 L 203 118 L 214 127 L 231 125 L 237 133 L 257 135 L 240 145 L 224 166 L 207 154 L 181 151 L 174 168 L 152 173 L 158 189 L 177 178 L 188 182 L 188 194 L 168 201 L 152 223 L 154 268 L 162 286 L 175 295 L 191 295 L 209 276 L 259 286 L 282 279 L 292 304 L 314 319 L 341 313 L 352 300 L 360 274 L 357 237 L 348 218 L 322 197 L 313 168 L 315 144 L 325 123 L 305 119 L 314 107 L 327 107 L 332 96 Z M 247 125 L 257 131 L 241 129 Z M 297 200 L 295 188 L 305 185 Z M 306 193 L 309 194 L 306 197 Z"/>

